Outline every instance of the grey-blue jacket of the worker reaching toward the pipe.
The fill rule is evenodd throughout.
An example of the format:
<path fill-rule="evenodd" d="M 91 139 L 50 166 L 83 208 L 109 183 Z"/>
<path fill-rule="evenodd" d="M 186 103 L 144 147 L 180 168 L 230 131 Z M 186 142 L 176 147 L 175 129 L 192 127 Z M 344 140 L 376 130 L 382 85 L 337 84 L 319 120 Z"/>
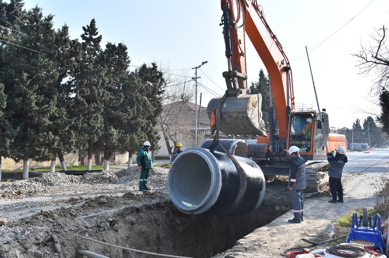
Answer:
<path fill-rule="evenodd" d="M 290 164 L 288 187 L 302 190 L 306 187 L 305 160 L 298 154 Z"/>

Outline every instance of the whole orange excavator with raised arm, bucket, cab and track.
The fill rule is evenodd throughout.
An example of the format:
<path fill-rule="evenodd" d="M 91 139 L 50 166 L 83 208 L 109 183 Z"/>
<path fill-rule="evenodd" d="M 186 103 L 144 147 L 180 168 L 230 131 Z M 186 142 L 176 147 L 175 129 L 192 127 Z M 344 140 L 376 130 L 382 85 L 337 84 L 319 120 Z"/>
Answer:
<path fill-rule="evenodd" d="M 251 158 L 265 176 L 288 175 L 290 160 L 285 153 L 289 146 L 300 148 L 307 165 L 307 188 L 321 190 L 328 182 L 326 153 L 342 146 L 344 135 L 330 133 L 328 114 L 311 109 L 297 111 L 293 92 L 290 62 L 276 35 L 270 30 L 256 0 L 221 0 L 222 23 L 226 45 L 228 71 L 223 72 L 227 91 L 223 97 L 213 98 L 208 104 L 211 130 L 226 135 L 256 141 L 219 140 L 232 155 Z M 262 117 L 261 94 L 250 95 L 246 73 L 246 35 L 265 64 L 269 75 L 270 99 L 274 107 L 278 128 L 273 119 L 274 107 L 270 101 L 266 129 Z M 218 137 L 218 136 L 217 136 Z M 210 145 L 210 140 L 202 147 Z"/>

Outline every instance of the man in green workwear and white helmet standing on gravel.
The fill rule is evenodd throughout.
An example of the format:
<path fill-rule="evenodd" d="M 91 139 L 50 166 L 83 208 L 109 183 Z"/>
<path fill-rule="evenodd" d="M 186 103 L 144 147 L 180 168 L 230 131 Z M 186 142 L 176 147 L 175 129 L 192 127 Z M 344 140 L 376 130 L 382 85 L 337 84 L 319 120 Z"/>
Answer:
<path fill-rule="evenodd" d="M 137 155 L 138 169 L 141 170 L 141 177 L 139 177 L 139 191 L 151 190 L 147 187 L 149 171 L 153 168 L 153 159 L 151 156 L 150 147 L 150 142 L 145 141 L 143 143 L 143 147 L 139 150 Z"/>

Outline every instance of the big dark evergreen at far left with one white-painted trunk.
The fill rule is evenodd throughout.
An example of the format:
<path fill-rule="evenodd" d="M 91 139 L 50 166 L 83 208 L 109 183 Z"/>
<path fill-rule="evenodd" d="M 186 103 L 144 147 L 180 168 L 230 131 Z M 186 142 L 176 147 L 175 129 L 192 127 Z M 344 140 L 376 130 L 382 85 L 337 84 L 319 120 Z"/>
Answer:
<path fill-rule="evenodd" d="M 56 112 L 56 99 L 46 94 L 57 74 L 48 58 L 48 46 L 54 41 L 53 16 L 43 17 L 36 6 L 26 13 L 25 19 L 19 20 L 23 22 L 14 27 L 24 34 L 12 35 L 9 40 L 26 48 L 4 46 L 0 82 L 7 95 L 6 119 L 15 136 L 9 157 L 24 161 L 23 177 L 27 178 L 29 159 L 45 161 L 51 157 L 48 146 L 53 144 L 54 137 L 47 128 L 50 116 Z"/>

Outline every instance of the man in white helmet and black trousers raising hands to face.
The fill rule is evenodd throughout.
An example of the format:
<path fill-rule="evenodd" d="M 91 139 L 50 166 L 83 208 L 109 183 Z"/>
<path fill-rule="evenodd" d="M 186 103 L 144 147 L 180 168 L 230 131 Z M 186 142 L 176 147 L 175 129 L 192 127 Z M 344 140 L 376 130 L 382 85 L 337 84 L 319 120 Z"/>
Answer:
<path fill-rule="evenodd" d="M 344 165 L 347 163 L 346 151 L 343 147 L 337 147 L 336 155 L 333 156 L 333 151 L 327 153 L 327 161 L 330 163 L 330 170 L 328 171 L 328 180 L 330 183 L 330 191 L 332 200 L 329 203 L 343 202 L 343 187 L 342 187 L 342 171 Z M 338 199 L 336 199 L 338 197 Z"/>

